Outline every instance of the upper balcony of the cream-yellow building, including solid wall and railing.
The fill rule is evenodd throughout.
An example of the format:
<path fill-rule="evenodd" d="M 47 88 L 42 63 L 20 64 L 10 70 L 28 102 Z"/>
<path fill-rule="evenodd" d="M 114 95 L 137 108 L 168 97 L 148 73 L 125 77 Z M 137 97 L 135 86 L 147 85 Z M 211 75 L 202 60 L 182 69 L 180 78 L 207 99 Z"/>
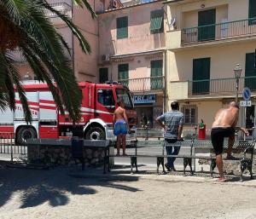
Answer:
<path fill-rule="evenodd" d="M 176 50 L 209 43 L 236 42 L 252 36 L 256 39 L 256 18 L 195 26 L 167 32 L 167 49 Z"/>

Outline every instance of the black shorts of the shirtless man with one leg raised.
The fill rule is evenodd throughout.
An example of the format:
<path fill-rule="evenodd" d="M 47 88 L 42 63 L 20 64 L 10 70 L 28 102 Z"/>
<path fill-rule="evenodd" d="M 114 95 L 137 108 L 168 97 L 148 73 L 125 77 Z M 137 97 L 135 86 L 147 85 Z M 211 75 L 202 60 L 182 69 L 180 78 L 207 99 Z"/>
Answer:
<path fill-rule="evenodd" d="M 216 155 L 223 153 L 224 138 L 235 135 L 235 129 L 232 127 L 222 128 L 216 127 L 212 128 L 211 139 L 212 146 Z"/>

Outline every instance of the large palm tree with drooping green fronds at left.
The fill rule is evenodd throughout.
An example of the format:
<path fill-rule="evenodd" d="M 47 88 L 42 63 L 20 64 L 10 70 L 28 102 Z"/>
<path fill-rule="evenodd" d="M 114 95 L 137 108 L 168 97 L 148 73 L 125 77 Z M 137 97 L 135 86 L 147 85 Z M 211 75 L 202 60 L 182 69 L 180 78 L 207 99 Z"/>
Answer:
<path fill-rule="evenodd" d="M 88 9 L 92 18 L 96 17 L 87 0 L 73 2 Z M 0 0 L 0 109 L 4 111 L 10 107 L 15 110 L 16 89 L 26 122 L 32 121 L 20 74 L 11 55 L 12 50 L 20 49 L 36 77 L 49 85 L 60 111 L 64 113 L 67 110 L 73 121 L 78 121 L 82 95 L 73 69 L 64 55 L 65 50 L 70 54 L 70 49 L 45 16 L 45 10 L 50 10 L 64 20 L 79 39 L 84 53 L 90 53 L 90 45 L 78 27 L 65 14 L 53 9 L 46 0 Z"/>

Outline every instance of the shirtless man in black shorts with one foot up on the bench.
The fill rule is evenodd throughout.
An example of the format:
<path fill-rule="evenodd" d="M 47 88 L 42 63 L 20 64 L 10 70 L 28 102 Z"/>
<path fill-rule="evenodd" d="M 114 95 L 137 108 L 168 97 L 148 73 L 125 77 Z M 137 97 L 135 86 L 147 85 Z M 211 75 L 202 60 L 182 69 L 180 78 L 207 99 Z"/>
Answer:
<path fill-rule="evenodd" d="M 232 158 L 231 151 L 235 142 L 235 130 L 239 129 L 244 132 L 245 135 L 249 135 L 247 129 L 236 128 L 239 115 L 239 105 L 237 102 L 230 102 L 230 107 L 227 109 L 220 109 L 216 113 L 214 122 L 212 124 L 212 146 L 216 153 L 216 164 L 219 172 L 219 182 L 225 182 L 223 173 L 223 144 L 224 137 L 229 137 L 229 146 L 227 150 L 227 158 Z"/>

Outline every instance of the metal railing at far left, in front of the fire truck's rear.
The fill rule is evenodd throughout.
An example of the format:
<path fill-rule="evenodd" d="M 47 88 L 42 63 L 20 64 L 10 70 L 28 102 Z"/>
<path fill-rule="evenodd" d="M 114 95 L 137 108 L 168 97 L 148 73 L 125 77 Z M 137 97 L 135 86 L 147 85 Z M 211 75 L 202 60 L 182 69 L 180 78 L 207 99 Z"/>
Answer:
<path fill-rule="evenodd" d="M 0 159 L 11 162 L 25 162 L 27 158 L 27 147 L 15 143 L 15 133 L 0 133 Z"/>

